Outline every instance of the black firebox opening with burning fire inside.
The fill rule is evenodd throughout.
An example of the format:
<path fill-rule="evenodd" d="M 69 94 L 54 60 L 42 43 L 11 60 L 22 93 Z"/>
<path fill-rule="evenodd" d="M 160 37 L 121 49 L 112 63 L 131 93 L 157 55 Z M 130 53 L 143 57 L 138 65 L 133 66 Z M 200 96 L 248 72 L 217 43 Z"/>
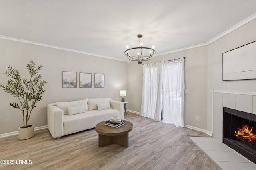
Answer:
<path fill-rule="evenodd" d="M 223 107 L 223 143 L 256 164 L 256 115 Z"/>

